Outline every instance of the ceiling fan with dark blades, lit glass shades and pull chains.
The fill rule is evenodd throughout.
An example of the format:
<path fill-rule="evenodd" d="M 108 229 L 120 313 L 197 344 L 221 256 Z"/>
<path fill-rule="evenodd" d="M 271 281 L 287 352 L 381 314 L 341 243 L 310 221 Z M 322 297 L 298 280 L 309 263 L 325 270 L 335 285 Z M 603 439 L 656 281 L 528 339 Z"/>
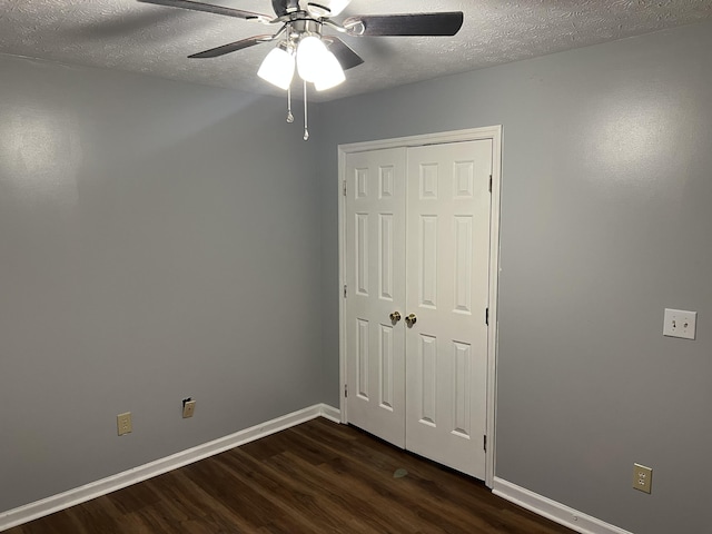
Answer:
<path fill-rule="evenodd" d="M 462 11 L 363 14 L 348 17 L 342 22 L 332 20 L 344 11 L 350 0 L 271 0 L 274 17 L 195 0 L 138 1 L 235 17 L 266 26 L 279 24 L 274 33 L 248 37 L 188 57 L 217 58 L 263 42 L 277 42 L 276 48 L 263 61 L 257 75 L 287 90 L 287 122 L 293 122 L 290 89 L 295 70 L 297 71 L 305 89 L 305 140 L 309 137 L 306 112 L 307 82 L 314 83 L 317 91 L 330 89 L 346 79 L 345 70 L 364 62 L 363 58 L 337 36 L 324 34 L 325 29 L 355 37 L 454 36 L 462 28 L 464 20 Z"/>

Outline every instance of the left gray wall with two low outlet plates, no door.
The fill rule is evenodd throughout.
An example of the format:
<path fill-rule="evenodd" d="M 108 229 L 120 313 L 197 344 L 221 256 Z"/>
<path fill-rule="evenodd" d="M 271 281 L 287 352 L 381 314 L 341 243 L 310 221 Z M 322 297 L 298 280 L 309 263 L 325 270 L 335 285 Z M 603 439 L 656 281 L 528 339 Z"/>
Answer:
<path fill-rule="evenodd" d="M 324 400 L 317 145 L 285 102 L 0 72 L 0 511 Z"/>

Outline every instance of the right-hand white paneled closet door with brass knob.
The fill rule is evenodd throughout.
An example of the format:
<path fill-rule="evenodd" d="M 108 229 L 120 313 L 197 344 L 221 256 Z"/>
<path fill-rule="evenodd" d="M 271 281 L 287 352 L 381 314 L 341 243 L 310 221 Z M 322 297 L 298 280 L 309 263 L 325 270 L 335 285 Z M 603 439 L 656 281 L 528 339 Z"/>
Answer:
<path fill-rule="evenodd" d="M 492 141 L 407 161 L 406 448 L 484 478 Z"/>

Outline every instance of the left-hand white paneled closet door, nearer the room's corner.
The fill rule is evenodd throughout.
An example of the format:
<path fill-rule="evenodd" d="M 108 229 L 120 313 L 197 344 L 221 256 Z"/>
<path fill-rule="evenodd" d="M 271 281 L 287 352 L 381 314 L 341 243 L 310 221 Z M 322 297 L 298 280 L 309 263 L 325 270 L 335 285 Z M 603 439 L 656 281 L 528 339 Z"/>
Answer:
<path fill-rule="evenodd" d="M 405 329 L 389 316 L 405 304 L 405 158 L 403 148 L 346 158 L 348 421 L 399 447 Z"/>

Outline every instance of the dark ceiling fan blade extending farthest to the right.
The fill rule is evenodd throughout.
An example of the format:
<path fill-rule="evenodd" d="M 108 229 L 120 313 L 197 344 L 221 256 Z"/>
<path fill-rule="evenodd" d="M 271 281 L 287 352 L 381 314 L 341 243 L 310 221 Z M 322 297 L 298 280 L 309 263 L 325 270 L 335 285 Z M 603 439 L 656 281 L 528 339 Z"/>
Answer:
<path fill-rule="evenodd" d="M 363 14 L 349 17 L 344 28 L 352 36 L 454 36 L 463 26 L 462 11 L 443 13 Z"/>

